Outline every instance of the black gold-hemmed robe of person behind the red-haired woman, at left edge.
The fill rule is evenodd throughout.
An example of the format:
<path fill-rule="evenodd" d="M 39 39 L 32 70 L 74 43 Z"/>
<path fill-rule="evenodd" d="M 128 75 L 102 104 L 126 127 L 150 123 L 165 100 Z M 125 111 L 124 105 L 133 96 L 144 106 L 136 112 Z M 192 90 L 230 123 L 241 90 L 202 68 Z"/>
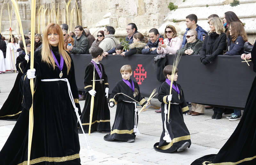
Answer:
<path fill-rule="evenodd" d="M 15 66 L 19 73 L 8 98 L 5 100 L 4 105 L 0 109 L 0 120 L 17 121 L 22 111 L 21 102 L 23 96 L 20 92 L 20 78 L 24 73 L 27 72 L 26 67 L 28 65 L 27 60 L 25 60 L 25 51 L 23 51 L 23 53 L 21 53 L 16 59 Z"/>

